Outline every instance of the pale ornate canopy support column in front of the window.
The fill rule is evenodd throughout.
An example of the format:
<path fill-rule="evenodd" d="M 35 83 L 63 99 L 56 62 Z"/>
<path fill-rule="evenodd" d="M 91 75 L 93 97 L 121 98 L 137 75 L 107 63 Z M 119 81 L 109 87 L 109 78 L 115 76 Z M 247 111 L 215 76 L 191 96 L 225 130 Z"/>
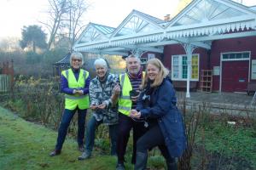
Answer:
<path fill-rule="evenodd" d="M 183 43 L 183 48 L 184 48 L 184 50 L 187 54 L 187 65 L 188 65 L 186 98 L 190 98 L 189 82 L 190 82 L 190 79 L 191 79 L 192 53 L 195 50 L 195 48 L 197 48 L 197 47 L 195 47 L 191 43 Z"/>

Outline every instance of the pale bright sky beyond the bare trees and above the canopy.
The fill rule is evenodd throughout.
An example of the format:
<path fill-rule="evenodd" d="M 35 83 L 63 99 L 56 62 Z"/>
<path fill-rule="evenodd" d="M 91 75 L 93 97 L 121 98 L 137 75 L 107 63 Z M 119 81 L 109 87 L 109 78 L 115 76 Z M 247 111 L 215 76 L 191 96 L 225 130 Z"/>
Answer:
<path fill-rule="evenodd" d="M 90 0 L 90 9 L 84 14 L 86 22 L 105 26 L 119 26 L 132 9 L 163 19 L 177 10 L 179 0 Z M 247 6 L 256 0 L 242 0 Z M 23 26 L 39 25 L 43 21 L 48 0 L 0 0 L 0 38 L 20 37 Z"/>

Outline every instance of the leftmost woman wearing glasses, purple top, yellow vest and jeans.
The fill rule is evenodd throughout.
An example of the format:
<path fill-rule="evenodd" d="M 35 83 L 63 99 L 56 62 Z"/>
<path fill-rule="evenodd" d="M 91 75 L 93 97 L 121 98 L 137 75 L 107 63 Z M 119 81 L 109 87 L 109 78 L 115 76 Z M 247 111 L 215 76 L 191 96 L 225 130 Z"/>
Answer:
<path fill-rule="evenodd" d="M 84 151 L 85 116 L 89 108 L 90 76 L 88 71 L 81 69 L 84 64 L 83 55 L 70 55 L 71 68 L 61 72 L 61 93 L 65 94 L 65 110 L 61 118 L 55 150 L 49 156 L 61 154 L 62 145 L 67 135 L 67 128 L 78 111 L 78 144 L 79 150 Z"/>

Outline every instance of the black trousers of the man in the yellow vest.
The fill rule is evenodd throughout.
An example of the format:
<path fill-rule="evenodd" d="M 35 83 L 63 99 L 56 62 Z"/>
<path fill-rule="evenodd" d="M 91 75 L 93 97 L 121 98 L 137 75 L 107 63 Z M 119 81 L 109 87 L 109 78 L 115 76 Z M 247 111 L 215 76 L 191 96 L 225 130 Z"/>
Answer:
<path fill-rule="evenodd" d="M 124 163 L 125 161 L 125 151 L 130 137 L 131 128 L 133 129 L 133 150 L 131 163 L 134 164 L 136 161 L 137 139 L 143 136 L 143 133 L 146 132 L 146 128 L 144 127 L 144 122 L 136 122 L 132 120 L 131 117 L 119 113 L 119 127 L 117 139 L 118 163 Z"/>

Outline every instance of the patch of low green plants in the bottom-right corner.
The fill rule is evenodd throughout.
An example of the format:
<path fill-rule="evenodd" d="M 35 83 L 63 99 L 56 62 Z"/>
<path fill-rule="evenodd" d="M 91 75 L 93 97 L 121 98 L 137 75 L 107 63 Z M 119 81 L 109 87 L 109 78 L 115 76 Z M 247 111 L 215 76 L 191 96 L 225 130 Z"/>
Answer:
<path fill-rule="evenodd" d="M 204 144 L 207 153 L 218 156 L 224 163 L 232 161 L 234 169 L 256 168 L 256 131 L 253 127 L 224 125 L 213 121 L 204 128 L 200 128 L 196 144 Z M 204 136 L 204 139 L 202 139 Z M 214 157 L 213 157 L 214 158 Z M 216 157 L 215 157 L 216 158 Z M 212 161 L 212 158 L 209 158 Z"/>

